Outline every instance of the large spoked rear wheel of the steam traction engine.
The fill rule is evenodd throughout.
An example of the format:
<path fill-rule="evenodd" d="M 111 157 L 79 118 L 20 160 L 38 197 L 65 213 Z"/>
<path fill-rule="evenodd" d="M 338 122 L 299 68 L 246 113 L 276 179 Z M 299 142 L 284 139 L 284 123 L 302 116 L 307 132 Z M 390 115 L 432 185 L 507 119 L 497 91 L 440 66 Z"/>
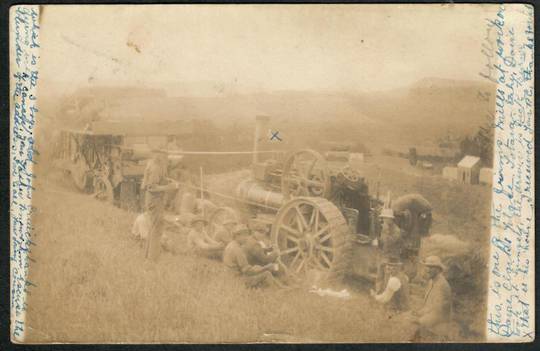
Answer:
<path fill-rule="evenodd" d="M 272 226 L 285 272 L 301 277 L 315 269 L 339 279 L 350 256 L 349 229 L 339 209 L 323 198 L 300 197 L 286 203 Z"/>

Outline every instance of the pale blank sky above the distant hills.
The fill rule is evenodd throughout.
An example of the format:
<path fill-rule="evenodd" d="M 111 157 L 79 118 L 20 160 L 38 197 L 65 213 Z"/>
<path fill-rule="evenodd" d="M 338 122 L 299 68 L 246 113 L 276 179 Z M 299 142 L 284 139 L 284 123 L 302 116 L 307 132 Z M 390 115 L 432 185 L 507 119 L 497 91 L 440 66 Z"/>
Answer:
<path fill-rule="evenodd" d="M 41 78 L 379 91 L 480 80 L 493 5 L 47 5 Z"/>

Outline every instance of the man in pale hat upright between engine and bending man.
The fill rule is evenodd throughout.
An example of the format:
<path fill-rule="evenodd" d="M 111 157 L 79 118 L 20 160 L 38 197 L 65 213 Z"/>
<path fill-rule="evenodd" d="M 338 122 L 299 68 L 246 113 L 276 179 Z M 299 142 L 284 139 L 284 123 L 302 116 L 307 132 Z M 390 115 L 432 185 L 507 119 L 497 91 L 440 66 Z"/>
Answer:
<path fill-rule="evenodd" d="M 381 210 L 379 218 L 382 220 L 381 238 L 379 240 L 379 257 L 377 267 L 377 280 L 375 291 L 380 294 L 385 288 L 388 280 L 386 277 L 386 265 L 392 262 L 399 262 L 401 259 L 401 249 L 403 240 L 401 232 L 394 223 L 394 211 L 385 207 Z"/>

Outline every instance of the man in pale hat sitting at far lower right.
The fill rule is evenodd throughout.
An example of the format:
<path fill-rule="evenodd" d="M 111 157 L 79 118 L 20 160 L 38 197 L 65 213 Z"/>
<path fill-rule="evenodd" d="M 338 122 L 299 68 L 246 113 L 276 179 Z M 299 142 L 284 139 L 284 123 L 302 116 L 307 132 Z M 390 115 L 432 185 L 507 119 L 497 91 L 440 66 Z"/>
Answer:
<path fill-rule="evenodd" d="M 413 313 L 418 325 L 415 339 L 437 339 L 448 334 L 451 327 L 452 289 L 443 274 L 446 267 L 438 256 L 429 256 L 422 264 L 429 282 L 424 306 Z"/>

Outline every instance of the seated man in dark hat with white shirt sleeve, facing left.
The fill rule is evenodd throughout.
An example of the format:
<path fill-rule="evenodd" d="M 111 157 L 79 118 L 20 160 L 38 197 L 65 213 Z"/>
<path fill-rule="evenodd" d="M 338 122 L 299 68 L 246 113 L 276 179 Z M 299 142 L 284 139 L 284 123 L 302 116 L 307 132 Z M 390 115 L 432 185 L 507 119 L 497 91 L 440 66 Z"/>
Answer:
<path fill-rule="evenodd" d="M 403 272 L 403 265 L 395 259 L 386 263 L 386 286 L 377 294 L 371 289 L 370 294 L 375 301 L 386 305 L 392 314 L 409 310 L 410 293 L 409 277 Z"/>

